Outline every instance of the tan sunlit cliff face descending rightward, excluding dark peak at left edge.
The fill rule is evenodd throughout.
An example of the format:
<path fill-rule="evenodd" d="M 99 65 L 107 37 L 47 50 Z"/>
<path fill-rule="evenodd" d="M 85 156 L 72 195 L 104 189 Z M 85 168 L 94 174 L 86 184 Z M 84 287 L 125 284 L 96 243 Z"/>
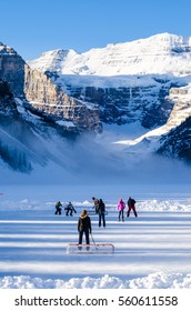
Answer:
<path fill-rule="evenodd" d="M 24 68 L 24 94 L 30 104 L 53 121 L 72 121 L 79 130 L 101 131 L 99 110 L 69 97 L 44 73 Z"/>

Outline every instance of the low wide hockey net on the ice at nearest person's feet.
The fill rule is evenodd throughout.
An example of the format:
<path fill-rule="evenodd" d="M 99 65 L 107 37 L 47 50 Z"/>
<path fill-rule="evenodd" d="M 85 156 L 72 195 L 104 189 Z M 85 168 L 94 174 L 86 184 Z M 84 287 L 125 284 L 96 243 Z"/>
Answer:
<path fill-rule="evenodd" d="M 110 254 L 114 252 L 114 245 L 111 243 L 92 243 L 92 244 L 74 244 L 69 243 L 67 247 L 68 254 L 77 253 L 105 253 Z"/>

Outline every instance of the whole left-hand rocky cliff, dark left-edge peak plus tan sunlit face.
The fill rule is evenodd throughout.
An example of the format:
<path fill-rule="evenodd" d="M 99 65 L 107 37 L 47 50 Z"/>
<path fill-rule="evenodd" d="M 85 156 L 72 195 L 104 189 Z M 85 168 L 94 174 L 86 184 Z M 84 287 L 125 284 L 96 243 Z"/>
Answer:
<path fill-rule="evenodd" d="M 101 131 L 99 110 L 66 94 L 59 86 L 44 73 L 30 69 L 22 58 L 10 47 L 0 43 L 0 79 L 9 84 L 13 97 L 47 114 L 51 121 L 66 122 L 69 131 Z"/>

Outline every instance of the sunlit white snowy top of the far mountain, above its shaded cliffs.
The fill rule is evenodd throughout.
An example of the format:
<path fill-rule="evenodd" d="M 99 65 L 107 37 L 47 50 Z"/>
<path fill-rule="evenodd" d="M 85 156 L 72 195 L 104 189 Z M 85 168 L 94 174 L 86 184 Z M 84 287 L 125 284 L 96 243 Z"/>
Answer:
<path fill-rule="evenodd" d="M 132 42 L 108 44 L 84 53 L 54 50 L 29 61 L 31 68 L 58 74 L 127 76 L 191 73 L 191 37 L 161 33 Z"/>

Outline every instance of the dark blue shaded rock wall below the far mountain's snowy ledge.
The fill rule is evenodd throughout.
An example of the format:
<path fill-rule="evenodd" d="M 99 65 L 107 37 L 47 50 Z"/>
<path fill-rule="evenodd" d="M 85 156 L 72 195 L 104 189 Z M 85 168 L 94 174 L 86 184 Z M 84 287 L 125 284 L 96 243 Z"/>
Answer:
<path fill-rule="evenodd" d="M 155 86 L 120 88 L 76 88 L 70 86 L 72 97 L 98 104 L 100 120 L 104 123 L 125 124 L 140 121 L 150 129 L 164 124 L 171 113 L 173 102 L 167 100 L 169 81 Z"/>

